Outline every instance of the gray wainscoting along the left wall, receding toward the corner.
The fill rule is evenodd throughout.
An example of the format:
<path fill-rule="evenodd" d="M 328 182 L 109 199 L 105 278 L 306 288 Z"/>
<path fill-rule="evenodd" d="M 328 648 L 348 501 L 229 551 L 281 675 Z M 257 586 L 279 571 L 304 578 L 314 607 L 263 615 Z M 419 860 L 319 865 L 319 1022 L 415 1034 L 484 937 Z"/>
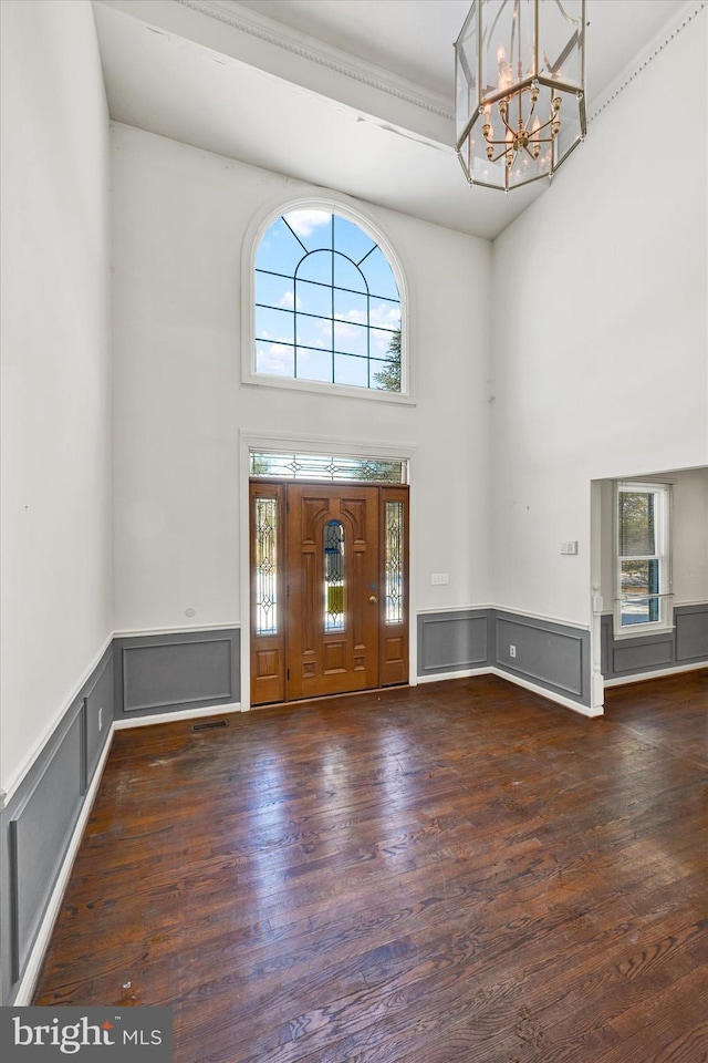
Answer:
<path fill-rule="evenodd" d="M 3 1004 L 17 993 L 111 732 L 112 660 L 108 647 L 0 813 Z"/>

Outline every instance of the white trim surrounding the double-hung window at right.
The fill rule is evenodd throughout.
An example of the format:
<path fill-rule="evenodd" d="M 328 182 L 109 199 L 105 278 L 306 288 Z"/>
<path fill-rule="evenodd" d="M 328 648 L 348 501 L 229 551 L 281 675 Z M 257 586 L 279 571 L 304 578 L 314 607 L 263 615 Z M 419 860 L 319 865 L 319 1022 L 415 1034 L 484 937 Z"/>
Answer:
<path fill-rule="evenodd" d="M 659 541 L 662 549 L 654 556 L 659 558 L 659 619 L 647 623 L 622 625 L 622 561 L 627 557 L 620 556 L 620 493 L 621 492 L 647 492 L 660 495 L 664 499 L 662 505 L 660 525 L 658 527 Z M 646 481 L 616 481 L 614 485 L 613 499 L 613 522 L 614 522 L 614 609 L 613 609 L 613 638 L 615 641 L 623 639 L 642 639 L 653 634 L 662 634 L 674 630 L 674 598 L 671 579 L 671 486 L 666 483 L 647 483 Z M 629 558 L 631 559 L 631 558 Z"/>

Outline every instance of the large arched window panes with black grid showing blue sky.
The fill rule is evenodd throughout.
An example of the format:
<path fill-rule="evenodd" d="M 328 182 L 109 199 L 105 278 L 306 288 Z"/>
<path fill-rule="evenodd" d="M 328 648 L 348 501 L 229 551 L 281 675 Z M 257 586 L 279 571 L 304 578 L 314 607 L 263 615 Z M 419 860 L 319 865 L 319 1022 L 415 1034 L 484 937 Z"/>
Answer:
<path fill-rule="evenodd" d="M 256 373 L 402 389 L 400 295 L 379 245 L 325 209 L 277 218 L 256 255 Z"/>

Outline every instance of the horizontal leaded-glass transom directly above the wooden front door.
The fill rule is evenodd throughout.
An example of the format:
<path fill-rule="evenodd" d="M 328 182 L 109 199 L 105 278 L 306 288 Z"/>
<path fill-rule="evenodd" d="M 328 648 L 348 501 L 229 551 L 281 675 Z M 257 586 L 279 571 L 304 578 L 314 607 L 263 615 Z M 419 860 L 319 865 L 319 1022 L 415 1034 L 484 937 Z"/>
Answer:
<path fill-rule="evenodd" d="M 383 457 L 251 453 L 251 476 L 405 484 L 406 473 L 405 462 Z"/>

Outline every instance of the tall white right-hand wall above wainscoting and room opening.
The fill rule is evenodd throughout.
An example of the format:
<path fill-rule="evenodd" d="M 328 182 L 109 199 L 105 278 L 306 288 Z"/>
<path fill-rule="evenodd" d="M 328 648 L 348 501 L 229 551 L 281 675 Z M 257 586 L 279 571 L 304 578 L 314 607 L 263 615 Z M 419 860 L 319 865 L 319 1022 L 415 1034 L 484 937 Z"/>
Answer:
<path fill-rule="evenodd" d="M 708 462 L 707 19 L 591 123 L 494 242 L 493 585 L 507 608 L 586 625 L 590 481 Z"/>

